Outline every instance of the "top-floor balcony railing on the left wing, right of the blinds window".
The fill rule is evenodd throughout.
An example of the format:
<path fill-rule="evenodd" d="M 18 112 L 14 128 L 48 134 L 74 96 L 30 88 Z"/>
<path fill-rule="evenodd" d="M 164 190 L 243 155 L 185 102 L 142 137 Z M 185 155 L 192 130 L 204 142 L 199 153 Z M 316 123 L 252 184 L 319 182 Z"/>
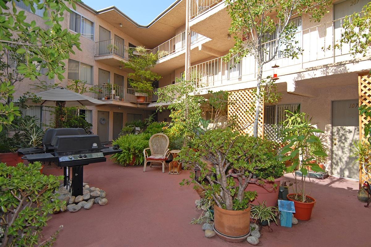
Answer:
<path fill-rule="evenodd" d="M 127 47 L 115 39 L 98 41 L 95 43 L 95 56 L 116 55 L 128 60 L 133 55 L 135 48 Z"/>

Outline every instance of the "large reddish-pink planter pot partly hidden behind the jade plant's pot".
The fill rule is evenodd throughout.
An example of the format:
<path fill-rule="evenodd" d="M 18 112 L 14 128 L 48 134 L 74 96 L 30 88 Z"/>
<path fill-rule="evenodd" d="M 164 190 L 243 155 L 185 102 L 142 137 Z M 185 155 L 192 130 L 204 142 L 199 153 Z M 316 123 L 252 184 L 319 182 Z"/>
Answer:
<path fill-rule="evenodd" d="M 232 169 L 228 171 L 229 173 L 232 173 Z M 236 177 L 233 178 L 236 182 L 236 186 L 239 185 L 238 179 Z M 277 200 L 278 200 L 278 192 L 279 192 L 279 186 L 281 184 L 282 177 L 276 178 L 274 181 L 268 181 L 265 179 L 262 179 L 264 182 L 263 187 L 256 183 L 249 183 L 249 185 L 246 187 L 245 191 L 256 191 L 257 197 L 255 197 L 255 200 L 253 200 L 252 204 L 262 204 L 263 201 L 266 201 L 267 207 L 276 207 Z M 274 188 L 274 184 L 276 184 L 276 187 Z"/>

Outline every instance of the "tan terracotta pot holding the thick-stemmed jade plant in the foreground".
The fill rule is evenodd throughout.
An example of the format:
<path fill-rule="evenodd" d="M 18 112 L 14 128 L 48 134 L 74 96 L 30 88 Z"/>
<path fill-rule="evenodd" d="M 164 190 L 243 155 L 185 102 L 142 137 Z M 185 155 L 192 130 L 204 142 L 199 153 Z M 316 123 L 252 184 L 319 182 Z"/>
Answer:
<path fill-rule="evenodd" d="M 231 237 L 242 238 L 247 236 L 250 233 L 250 209 L 249 207 L 245 210 L 225 210 L 215 205 L 214 228 L 217 231 L 217 235 L 231 242 L 236 242 Z M 237 241 L 243 240 L 246 240 L 246 237 Z"/>

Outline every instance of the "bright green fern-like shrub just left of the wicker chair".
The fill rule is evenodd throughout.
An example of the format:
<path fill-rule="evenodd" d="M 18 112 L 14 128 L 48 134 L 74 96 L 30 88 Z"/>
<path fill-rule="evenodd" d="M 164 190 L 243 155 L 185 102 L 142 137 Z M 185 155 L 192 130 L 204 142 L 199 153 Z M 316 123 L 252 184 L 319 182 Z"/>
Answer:
<path fill-rule="evenodd" d="M 140 165 L 144 162 L 143 150 L 148 147 L 148 138 L 145 134 L 120 136 L 112 144 L 118 144 L 120 149 L 122 149 L 121 153 L 116 153 L 112 156 L 120 165 L 126 166 L 132 162 L 133 158 L 135 158 L 135 165 Z"/>

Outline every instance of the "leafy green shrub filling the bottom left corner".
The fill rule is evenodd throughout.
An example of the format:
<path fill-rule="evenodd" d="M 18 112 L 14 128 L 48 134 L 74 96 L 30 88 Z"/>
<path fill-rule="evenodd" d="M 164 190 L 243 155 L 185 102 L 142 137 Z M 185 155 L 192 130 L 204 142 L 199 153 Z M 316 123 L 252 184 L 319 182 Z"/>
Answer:
<path fill-rule="evenodd" d="M 45 176 L 40 169 L 39 162 L 16 167 L 0 163 L 1 246 L 38 245 L 48 214 L 65 207 L 58 194 L 53 194 L 63 176 Z M 56 234 L 41 246 L 50 246 Z"/>

